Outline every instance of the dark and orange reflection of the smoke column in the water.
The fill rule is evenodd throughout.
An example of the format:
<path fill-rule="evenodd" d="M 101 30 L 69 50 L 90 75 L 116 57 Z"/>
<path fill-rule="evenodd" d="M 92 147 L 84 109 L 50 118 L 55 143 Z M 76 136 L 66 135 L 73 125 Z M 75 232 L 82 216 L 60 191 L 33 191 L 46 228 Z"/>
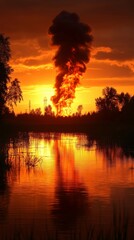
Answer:
<path fill-rule="evenodd" d="M 76 229 L 89 216 L 89 199 L 86 187 L 79 180 L 74 153 L 64 143 L 55 142 L 57 186 L 56 201 L 52 205 L 54 224 L 59 232 Z M 64 155 L 63 155 L 64 152 Z"/>

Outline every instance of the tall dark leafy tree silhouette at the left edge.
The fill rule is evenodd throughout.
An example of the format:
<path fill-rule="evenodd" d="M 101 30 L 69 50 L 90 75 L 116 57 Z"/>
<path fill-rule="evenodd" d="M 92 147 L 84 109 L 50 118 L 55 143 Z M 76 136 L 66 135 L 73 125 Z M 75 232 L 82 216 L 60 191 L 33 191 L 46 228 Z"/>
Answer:
<path fill-rule="evenodd" d="M 11 80 L 13 69 L 9 65 L 11 49 L 9 38 L 0 34 L 0 116 L 13 111 L 13 105 L 22 100 L 22 91 L 17 79 Z"/>

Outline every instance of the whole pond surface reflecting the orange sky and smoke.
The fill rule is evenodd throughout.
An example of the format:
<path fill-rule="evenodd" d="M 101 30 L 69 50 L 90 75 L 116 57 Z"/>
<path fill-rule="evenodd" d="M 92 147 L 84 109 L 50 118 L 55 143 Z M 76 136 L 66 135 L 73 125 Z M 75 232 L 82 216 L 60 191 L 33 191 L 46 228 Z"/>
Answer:
<path fill-rule="evenodd" d="M 82 134 L 1 137 L 1 239 L 134 239 L 134 148 Z"/>

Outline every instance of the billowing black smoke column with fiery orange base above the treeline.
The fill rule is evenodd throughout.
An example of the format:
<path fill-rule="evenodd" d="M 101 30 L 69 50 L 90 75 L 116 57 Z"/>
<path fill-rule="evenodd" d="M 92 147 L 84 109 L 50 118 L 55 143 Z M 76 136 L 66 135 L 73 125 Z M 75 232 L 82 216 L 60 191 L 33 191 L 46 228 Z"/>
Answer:
<path fill-rule="evenodd" d="M 89 61 L 92 35 L 90 27 L 80 22 L 76 13 L 62 11 L 49 28 L 52 45 L 58 46 L 54 63 L 58 69 L 55 95 L 52 101 L 57 114 L 69 109 L 75 97 L 75 89 Z"/>

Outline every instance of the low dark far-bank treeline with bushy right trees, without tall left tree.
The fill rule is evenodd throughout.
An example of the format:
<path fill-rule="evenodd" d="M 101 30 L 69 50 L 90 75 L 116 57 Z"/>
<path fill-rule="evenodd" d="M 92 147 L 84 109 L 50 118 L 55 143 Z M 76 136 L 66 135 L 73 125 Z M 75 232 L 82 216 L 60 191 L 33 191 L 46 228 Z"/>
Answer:
<path fill-rule="evenodd" d="M 96 99 L 96 107 L 95 112 L 76 112 L 71 116 L 56 116 L 52 111 L 42 114 L 40 110 L 8 114 L 3 116 L 3 123 L 6 129 L 19 131 L 86 132 L 94 137 L 133 138 L 134 96 L 106 87 L 103 96 Z"/>

